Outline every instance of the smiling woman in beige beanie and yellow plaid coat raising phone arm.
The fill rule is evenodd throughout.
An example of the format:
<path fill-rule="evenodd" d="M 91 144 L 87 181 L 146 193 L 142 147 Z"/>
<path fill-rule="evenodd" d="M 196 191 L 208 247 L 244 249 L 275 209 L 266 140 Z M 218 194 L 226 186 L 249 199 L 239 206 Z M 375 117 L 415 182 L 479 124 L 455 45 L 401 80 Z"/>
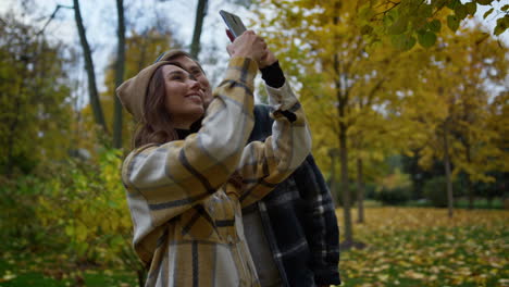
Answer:
<path fill-rule="evenodd" d="M 266 195 L 309 153 L 302 109 L 287 85 L 269 90 L 276 109 L 274 136 L 246 146 L 253 126 L 253 78 L 271 53 L 252 32 L 228 49 L 225 78 L 207 113 L 206 87 L 175 62 L 157 62 L 117 89 L 141 126 L 122 178 L 134 248 L 149 266 L 146 286 L 258 286 L 240 209 Z"/>

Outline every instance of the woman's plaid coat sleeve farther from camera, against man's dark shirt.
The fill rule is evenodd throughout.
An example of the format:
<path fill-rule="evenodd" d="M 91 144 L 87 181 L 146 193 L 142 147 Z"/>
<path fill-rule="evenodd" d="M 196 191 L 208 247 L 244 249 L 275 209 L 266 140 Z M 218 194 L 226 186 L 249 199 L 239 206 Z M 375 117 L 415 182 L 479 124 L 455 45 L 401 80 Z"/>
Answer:
<path fill-rule="evenodd" d="M 266 87 L 274 111 L 272 136 L 264 141 L 251 141 L 243 152 L 238 172 L 243 208 L 260 200 L 288 177 L 311 150 L 311 135 L 302 107 L 288 83 L 281 88 Z"/>

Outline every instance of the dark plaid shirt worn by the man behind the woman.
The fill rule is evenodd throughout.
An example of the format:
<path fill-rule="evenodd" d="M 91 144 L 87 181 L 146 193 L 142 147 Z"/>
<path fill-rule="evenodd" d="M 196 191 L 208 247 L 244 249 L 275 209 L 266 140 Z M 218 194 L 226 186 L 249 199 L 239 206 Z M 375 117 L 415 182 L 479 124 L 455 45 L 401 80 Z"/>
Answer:
<path fill-rule="evenodd" d="M 254 108 L 249 138 L 271 135 L 270 107 Z M 285 286 L 340 284 L 339 232 L 331 192 L 310 154 L 293 175 L 243 212 L 258 209 L 274 261 Z"/>

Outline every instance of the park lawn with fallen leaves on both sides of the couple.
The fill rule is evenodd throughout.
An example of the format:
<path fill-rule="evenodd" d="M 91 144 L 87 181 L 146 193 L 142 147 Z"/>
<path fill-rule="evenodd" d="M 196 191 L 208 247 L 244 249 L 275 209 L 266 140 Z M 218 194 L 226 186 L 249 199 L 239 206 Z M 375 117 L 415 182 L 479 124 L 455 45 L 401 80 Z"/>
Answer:
<path fill-rule="evenodd" d="M 344 286 L 509 286 L 508 222 L 500 210 L 455 210 L 448 219 L 445 209 L 369 208 L 353 226 L 367 248 L 340 255 Z M 54 257 L 3 252 L 0 286 L 75 286 L 76 276 L 85 286 L 137 286 L 134 273 L 97 267 L 55 279 Z"/>

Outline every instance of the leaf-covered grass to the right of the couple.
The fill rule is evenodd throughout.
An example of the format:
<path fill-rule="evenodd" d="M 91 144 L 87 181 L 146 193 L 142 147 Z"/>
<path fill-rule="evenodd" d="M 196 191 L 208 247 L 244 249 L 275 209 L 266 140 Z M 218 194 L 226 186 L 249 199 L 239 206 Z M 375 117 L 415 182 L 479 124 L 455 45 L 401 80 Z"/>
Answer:
<path fill-rule="evenodd" d="M 342 216 L 339 210 L 337 216 Z M 508 286 L 508 211 L 371 208 L 343 252 L 346 286 Z"/>

